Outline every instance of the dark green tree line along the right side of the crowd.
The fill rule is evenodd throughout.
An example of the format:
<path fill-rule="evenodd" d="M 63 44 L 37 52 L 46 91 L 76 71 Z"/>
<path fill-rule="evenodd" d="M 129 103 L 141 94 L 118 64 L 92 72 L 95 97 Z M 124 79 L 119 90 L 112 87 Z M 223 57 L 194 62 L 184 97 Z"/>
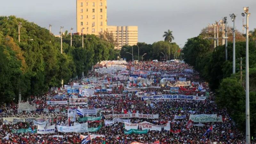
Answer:
<path fill-rule="evenodd" d="M 256 29 L 250 31 L 249 67 L 250 67 L 250 121 L 251 134 L 255 136 L 256 124 Z M 245 132 L 245 35 L 236 31 L 236 74 L 232 74 L 233 41 L 228 28 L 228 60 L 225 60 L 225 45 L 213 47 L 212 31 L 204 28 L 199 36 L 189 38 L 182 53 L 184 61 L 194 66 L 201 76 L 209 82 L 216 92 L 218 107 L 227 109 L 236 126 Z M 242 58 L 242 59 L 240 59 Z M 242 65 L 240 62 L 242 61 Z M 240 68 L 242 70 L 240 71 Z M 242 75 L 241 75 L 242 72 Z"/>

